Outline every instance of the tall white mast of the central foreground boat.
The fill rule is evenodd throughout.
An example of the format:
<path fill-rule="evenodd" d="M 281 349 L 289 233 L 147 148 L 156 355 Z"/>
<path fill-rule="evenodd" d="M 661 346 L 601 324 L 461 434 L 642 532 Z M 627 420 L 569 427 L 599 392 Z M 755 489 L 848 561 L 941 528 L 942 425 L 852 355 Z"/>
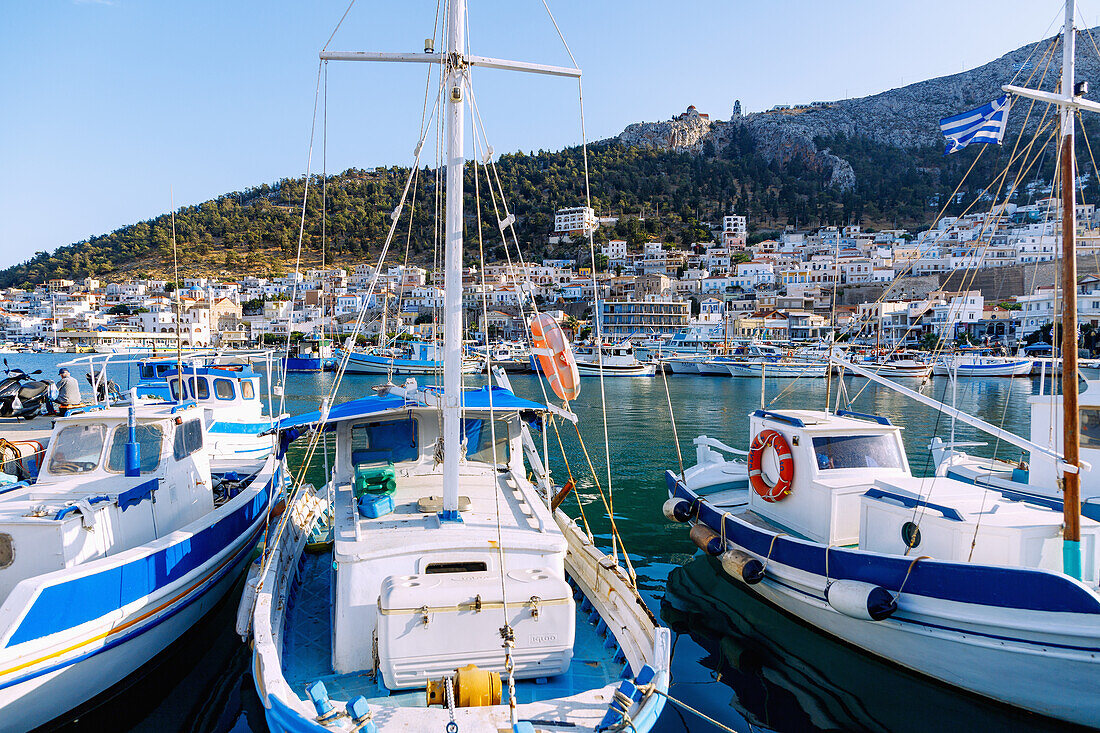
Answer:
<path fill-rule="evenodd" d="M 459 516 L 459 411 L 462 401 L 462 173 L 466 2 L 451 0 L 447 22 L 447 228 L 443 285 L 443 513 Z"/>

